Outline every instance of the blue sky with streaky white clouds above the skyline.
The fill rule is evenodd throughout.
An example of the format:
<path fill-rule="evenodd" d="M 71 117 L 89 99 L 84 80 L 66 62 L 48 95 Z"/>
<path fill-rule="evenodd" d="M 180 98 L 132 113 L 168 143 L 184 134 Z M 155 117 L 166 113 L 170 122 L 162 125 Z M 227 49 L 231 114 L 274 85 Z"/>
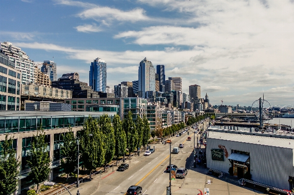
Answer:
<path fill-rule="evenodd" d="M 201 86 L 212 105 L 294 105 L 294 0 L 0 0 L 0 42 L 57 77 L 107 63 L 107 86 L 138 80 L 146 57 Z"/>

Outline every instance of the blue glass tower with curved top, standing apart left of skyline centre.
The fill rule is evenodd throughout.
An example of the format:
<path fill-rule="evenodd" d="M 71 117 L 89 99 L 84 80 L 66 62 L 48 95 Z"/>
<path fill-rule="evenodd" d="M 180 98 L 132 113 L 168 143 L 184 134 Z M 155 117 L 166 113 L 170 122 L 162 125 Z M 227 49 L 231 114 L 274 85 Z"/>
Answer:
<path fill-rule="evenodd" d="M 91 62 L 89 86 L 94 91 L 106 92 L 106 63 L 101 58 L 96 58 L 94 62 Z"/>

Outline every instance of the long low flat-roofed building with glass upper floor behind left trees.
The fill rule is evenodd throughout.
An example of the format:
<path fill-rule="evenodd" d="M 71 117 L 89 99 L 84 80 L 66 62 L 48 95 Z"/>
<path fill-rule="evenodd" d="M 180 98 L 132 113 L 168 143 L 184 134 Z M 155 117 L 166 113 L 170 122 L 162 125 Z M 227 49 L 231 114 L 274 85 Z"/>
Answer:
<path fill-rule="evenodd" d="M 60 145 L 63 144 L 62 134 L 68 132 L 68 127 L 73 128 L 74 134 L 82 130 L 85 120 L 91 115 L 94 118 L 107 114 L 113 118 L 115 112 L 66 112 L 66 111 L 2 111 L 0 112 L 0 141 L 5 140 L 5 135 L 14 136 L 13 149 L 17 152 L 17 158 L 21 161 L 21 170 L 18 176 L 18 190 L 16 195 L 21 194 L 32 182 L 27 160 L 30 158 L 28 152 L 31 150 L 31 142 L 36 130 L 42 124 L 48 143 L 50 162 L 50 173 L 48 180 L 62 174 L 60 168 Z"/>

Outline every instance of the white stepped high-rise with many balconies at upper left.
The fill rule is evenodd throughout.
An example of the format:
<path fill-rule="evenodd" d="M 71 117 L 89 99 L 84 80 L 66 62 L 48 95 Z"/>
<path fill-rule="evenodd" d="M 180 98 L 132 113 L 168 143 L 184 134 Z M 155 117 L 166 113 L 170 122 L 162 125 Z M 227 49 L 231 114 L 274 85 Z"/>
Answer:
<path fill-rule="evenodd" d="M 22 71 L 22 84 L 34 83 L 35 63 L 29 59 L 22 48 L 16 47 L 9 42 L 0 43 L 0 53 L 14 62 L 14 68 Z"/>

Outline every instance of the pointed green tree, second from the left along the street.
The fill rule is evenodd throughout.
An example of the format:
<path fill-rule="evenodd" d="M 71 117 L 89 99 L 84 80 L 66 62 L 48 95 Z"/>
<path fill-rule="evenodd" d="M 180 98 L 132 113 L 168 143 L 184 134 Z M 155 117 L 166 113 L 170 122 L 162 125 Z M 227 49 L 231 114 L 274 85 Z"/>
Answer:
<path fill-rule="evenodd" d="M 40 125 L 37 130 L 37 134 L 33 135 L 32 148 L 28 152 L 31 157 L 27 164 L 31 169 L 28 173 L 32 181 L 37 184 L 37 192 L 39 189 L 39 183 L 45 181 L 48 178 L 50 172 L 50 157 L 47 151 L 48 144 L 45 142 L 45 132 Z"/>

